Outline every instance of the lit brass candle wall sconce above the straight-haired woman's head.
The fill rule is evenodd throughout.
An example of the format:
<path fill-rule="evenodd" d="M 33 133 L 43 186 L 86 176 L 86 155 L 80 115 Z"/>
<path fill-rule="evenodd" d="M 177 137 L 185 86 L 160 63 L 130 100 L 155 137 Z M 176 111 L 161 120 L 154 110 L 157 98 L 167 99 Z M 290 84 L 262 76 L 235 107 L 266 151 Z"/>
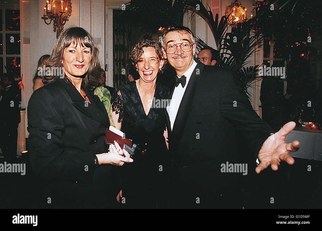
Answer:
<path fill-rule="evenodd" d="M 64 25 L 68 21 L 69 16 L 71 16 L 71 0 L 49 0 L 46 2 L 43 8 L 43 21 L 49 25 L 54 24 L 54 32 L 56 33 L 56 38 L 64 30 Z M 47 22 L 46 20 L 49 20 Z"/>

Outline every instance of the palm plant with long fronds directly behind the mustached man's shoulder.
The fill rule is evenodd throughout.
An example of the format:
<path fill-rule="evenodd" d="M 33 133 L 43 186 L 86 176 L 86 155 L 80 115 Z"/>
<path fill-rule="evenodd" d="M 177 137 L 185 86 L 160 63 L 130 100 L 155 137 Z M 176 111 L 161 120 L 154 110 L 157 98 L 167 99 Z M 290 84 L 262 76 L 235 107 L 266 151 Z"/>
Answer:
<path fill-rule="evenodd" d="M 188 9 L 204 18 L 212 29 L 216 48 L 220 53 L 220 59 L 217 60 L 218 65 L 237 72 L 237 78 L 241 80 L 244 91 L 250 97 L 247 89 L 252 87 L 250 83 L 256 79 L 259 65 L 249 67 L 246 65 L 251 62 L 247 60 L 253 55 L 254 48 L 261 39 L 260 30 L 251 32 L 255 19 L 238 23 L 237 28 L 232 28 L 231 32 L 227 32 L 227 17 L 223 16 L 219 22 L 218 14 L 213 19 L 211 10 L 207 10 L 199 0 L 185 0 L 184 2 Z M 209 5 L 208 8 L 210 9 Z M 196 43 L 197 48 L 206 47 L 199 37 L 196 38 Z"/>

